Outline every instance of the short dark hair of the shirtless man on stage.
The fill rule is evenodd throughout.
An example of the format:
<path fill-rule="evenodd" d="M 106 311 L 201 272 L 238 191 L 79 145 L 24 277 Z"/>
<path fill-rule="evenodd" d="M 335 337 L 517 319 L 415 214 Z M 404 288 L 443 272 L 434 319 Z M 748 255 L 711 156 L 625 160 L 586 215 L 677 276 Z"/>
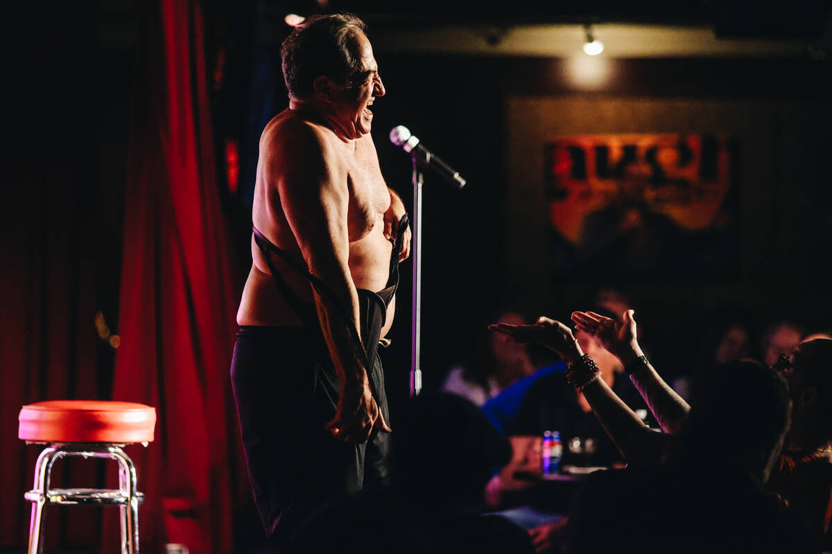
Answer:
<path fill-rule="evenodd" d="M 310 16 L 295 27 L 280 47 L 289 95 L 312 96 L 319 76 L 349 85 L 361 71 L 359 34 L 367 34 L 367 25 L 351 13 Z"/>

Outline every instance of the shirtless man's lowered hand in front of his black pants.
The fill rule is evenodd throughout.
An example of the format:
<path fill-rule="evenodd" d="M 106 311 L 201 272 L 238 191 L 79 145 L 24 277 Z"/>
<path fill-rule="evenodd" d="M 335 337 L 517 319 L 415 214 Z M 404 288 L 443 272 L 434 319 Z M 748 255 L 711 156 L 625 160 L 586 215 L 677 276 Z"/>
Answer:
<path fill-rule="evenodd" d="M 346 385 L 342 387 L 335 409 L 335 417 L 326 424 L 326 429 L 335 439 L 346 443 L 366 443 L 374 427 L 389 433 L 390 428 L 384 421 L 384 415 L 375 403 L 369 383 Z"/>

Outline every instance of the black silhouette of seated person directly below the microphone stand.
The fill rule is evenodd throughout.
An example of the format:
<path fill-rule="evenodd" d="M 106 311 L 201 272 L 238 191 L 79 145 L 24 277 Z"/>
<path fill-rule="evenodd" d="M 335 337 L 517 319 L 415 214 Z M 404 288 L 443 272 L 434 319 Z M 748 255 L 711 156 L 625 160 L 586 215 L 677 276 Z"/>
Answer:
<path fill-rule="evenodd" d="M 485 484 L 511 449 L 474 404 L 415 397 L 392 440 L 390 487 L 324 507 L 290 552 L 534 552 L 520 527 L 482 515 Z"/>

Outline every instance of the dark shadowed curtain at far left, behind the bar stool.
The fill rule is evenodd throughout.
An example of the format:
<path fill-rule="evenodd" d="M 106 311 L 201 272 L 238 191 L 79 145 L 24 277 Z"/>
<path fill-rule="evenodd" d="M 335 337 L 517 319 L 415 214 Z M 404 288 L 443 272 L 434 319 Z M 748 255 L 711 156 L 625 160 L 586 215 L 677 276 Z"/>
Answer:
<path fill-rule="evenodd" d="M 0 551 L 27 544 L 23 493 L 40 449 L 17 439 L 21 405 L 97 398 L 99 361 L 110 349 L 94 324 L 106 257 L 93 200 L 96 6 L 16 7 L 20 17 L 12 10 L 4 27 L 14 78 L 0 199 Z M 56 463 L 54 486 L 97 486 L 96 463 L 76 462 Z M 95 544 L 98 514 L 50 510 L 47 550 Z"/>

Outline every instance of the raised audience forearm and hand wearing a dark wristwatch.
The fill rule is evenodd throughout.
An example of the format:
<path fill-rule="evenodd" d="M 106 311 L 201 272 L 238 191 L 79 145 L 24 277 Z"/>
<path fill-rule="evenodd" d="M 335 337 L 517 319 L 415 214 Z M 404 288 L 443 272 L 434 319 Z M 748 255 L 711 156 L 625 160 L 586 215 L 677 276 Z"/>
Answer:
<path fill-rule="evenodd" d="M 681 422 L 691 411 L 691 406 L 661 379 L 647 361 L 636 334 L 635 311 L 627 310 L 621 320 L 616 321 L 594 311 L 576 311 L 572 321 L 578 329 L 594 336 L 604 348 L 616 355 L 630 373 L 630 380 L 636 385 L 641 398 L 650 408 L 661 429 L 676 433 Z M 588 399 L 587 399 L 588 400 Z"/>

